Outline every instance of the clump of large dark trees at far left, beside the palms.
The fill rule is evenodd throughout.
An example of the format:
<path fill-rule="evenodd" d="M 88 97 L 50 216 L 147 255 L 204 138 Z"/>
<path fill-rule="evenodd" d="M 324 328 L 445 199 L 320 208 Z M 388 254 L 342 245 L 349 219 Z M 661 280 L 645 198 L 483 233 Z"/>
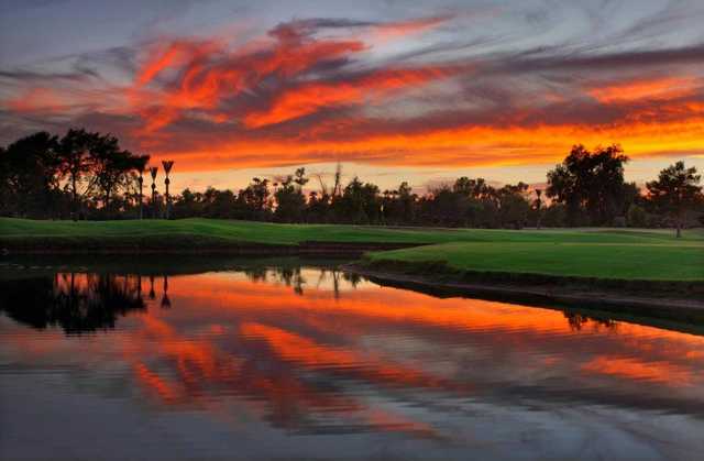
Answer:
<path fill-rule="evenodd" d="M 106 219 L 138 204 L 148 155 L 123 150 L 111 134 L 45 131 L 0 147 L 0 213 L 20 218 Z"/>

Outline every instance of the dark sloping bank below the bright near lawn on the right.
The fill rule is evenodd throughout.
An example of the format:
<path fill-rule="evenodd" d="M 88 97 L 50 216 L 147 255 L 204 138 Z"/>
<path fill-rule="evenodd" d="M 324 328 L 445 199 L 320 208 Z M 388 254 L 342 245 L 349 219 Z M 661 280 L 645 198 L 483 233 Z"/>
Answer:
<path fill-rule="evenodd" d="M 405 266 L 405 267 L 404 267 Z M 642 317 L 704 323 L 704 284 L 697 282 L 660 283 L 624 281 L 637 285 L 653 285 L 654 289 L 638 293 L 631 287 L 619 288 L 620 281 L 579 279 L 576 277 L 541 277 L 534 274 L 446 271 L 438 265 L 421 272 L 413 264 L 374 263 L 360 261 L 345 264 L 342 270 L 364 276 L 383 286 L 414 289 L 440 297 L 481 297 L 509 303 L 552 304 Z M 510 282 L 505 278 L 510 275 Z M 522 278 L 522 282 L 521 282 Z M 542 278 L 542 282 L 538 282 Z M 528 283 L 531 281 L 534 283 Z M 670 289 L 662 289 L 664 286 Z M 678 296 L 678 287 L 688 288 L 686 296 Z M 660 289 L 658 289 L 660 288 Z M 693 293 L 692 293 L 693 292 Z"/>

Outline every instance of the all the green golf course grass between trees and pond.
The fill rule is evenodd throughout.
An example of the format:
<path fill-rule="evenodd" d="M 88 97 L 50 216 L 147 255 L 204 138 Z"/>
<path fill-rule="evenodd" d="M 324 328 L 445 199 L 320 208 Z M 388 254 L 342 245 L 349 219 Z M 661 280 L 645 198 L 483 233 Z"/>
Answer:
<path fill-rule="evenodd" d="M 469 271 L 600 278 L 704 281 L 704 231 L 675 239 L 670 230 L 483 230 L 272 224 L 211 219 L 174 221 L 33 221 L 0 218 L 0 248 L 260 243 L 306 241 L 417 243 L 372 260 L 444 262 Z"/>

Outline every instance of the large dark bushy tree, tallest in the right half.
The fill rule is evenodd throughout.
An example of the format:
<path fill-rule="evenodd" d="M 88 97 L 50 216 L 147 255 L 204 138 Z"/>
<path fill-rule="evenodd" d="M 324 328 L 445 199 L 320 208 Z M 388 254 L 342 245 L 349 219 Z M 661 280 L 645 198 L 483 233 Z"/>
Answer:
<path fill-rule="evenodd" d="M 592 224 L 609 224 L 623 213 L 624 165 L 628 157 L 616 144 L 590 152 L 583 145 L 572 147 L 564 161 L 548 172 L 546 194 L 566 205 L 571 226 L 582 224 L 586 213 Z"/>

